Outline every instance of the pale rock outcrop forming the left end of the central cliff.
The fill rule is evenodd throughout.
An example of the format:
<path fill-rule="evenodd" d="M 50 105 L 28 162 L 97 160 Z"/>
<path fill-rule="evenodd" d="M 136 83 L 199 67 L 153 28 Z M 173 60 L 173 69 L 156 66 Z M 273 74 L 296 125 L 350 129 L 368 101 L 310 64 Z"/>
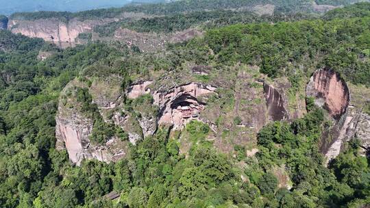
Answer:
<path fill-rule="evenodd" d="M 83 159 L 98 159 L 99 161 L 116 161 L 125 156 L 127 142 L 112 137 L 105 144 L 93 144 L 90 135 L 94 120 L 78 110 L 78 104 L 73 100 L 75 86 L 83 86 L 79 81 L 71 81 L 62 92 L 71 94 L 61 98 L 56 116 L 57 148 L 65 148 L 69 159 L 79 166 Z"/>

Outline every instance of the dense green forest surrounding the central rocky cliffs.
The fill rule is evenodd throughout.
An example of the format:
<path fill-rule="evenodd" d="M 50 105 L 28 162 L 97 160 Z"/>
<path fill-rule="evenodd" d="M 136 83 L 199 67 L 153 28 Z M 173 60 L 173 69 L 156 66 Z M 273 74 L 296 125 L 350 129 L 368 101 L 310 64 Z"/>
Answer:
<path fill-rule="evenodd" d="M 304 118 L 272 122 L 260 130 L 255 157 L 247 157 L 244 146 L 234 147 L 235 158 L 219 153 L 206 140 L 210 127 L 201 122 L 190 122 L 183 130 L 193 141 L 187 157 L 180 154 L 180 144 L 169 136 L 167 127 L 130 146 L 125 159 L 111 164 L 92 160 L 72 166 L 66 151 L 55 148 L 60 91 L 86 71 L 119 73 L 126 88 L 135 75 L 182 70 L 186 62 L 230 69 L 228 73 L 235 73 L 229 66 L 257 65 L 272 78 L 304 77 L 312 66 L 328 66 L 347 81 L 369 87 L 370 17 L 367 12 L 358 15 L 356 5 L 350 10 L 354 12 L 347 12 L 349 18 L 335 14 L 338 18 L 331 21 L 211 29 L 202 38 L 169 45 L 167 51 L 154 54 L 142 54 L 117 42 L 90 42 L 62 50 L 40 39 L 0 31 L 0 207 L 368 205 L 370 160 L 358 154 L 359 141 L 352 140 L 328 168 L 323 166 L 318 142 L 328 128 L 327 121 L 310 99 Z M 336 10 L 341 11 L 347 10 Z M 162 29 L 166 27 L 158 31 Z M 54 55 L 37 60 L 40 50 Z M 77 99 L 83 111 L 97 119 L 92 140 L 99 143 L 115 133 L 126 136 L 95 115 L 97 109 L 86 88 L 77 88 Z M 151 98 L 128 102 L 142 105 Z M 240 119 L 234 122 L 238 125 Z M 290 190 L 280 186 L 277 170 L 290 179 Z M 104 197 L 112 191 L 121 194 L 119 203 Z"/>

